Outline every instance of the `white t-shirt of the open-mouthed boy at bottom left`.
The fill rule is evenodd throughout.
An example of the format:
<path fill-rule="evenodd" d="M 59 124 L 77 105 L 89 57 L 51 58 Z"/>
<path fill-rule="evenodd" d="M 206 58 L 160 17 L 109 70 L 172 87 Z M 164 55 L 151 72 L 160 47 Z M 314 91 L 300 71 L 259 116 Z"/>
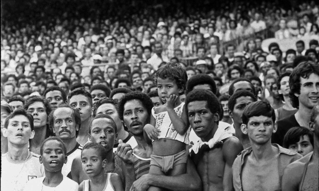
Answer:
<path fill-rule="evenodd" d="M 62 182 L 56 187 L 48 187 L 43 184 L 45 177 L 36 178 L 28 181 L 23 191 L 78 191 L 78 183 L 63 176 Z"/>

